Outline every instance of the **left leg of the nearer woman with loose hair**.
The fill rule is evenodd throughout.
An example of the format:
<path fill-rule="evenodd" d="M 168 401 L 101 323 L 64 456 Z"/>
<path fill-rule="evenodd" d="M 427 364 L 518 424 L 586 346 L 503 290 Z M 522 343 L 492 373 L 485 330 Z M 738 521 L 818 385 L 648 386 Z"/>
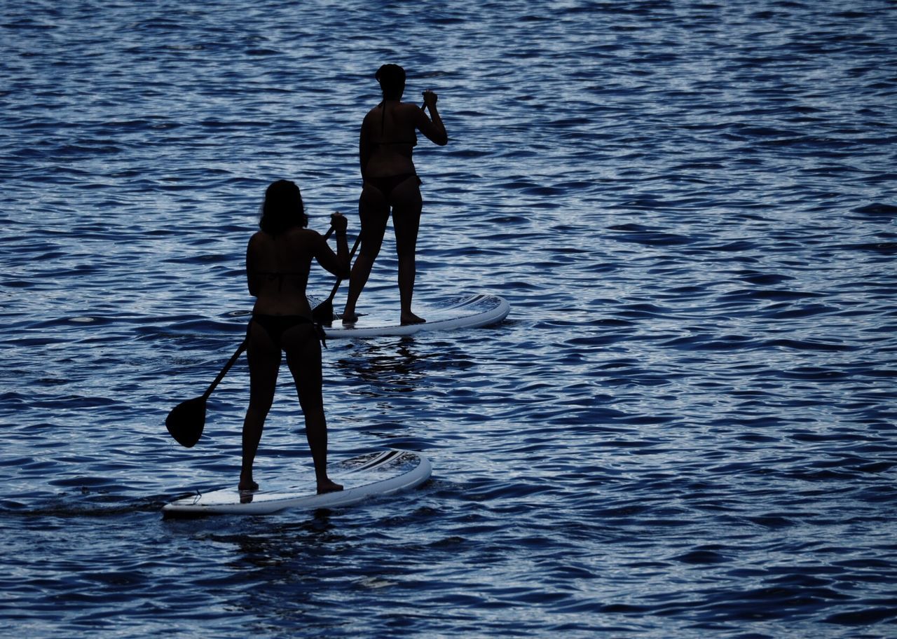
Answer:
<path fill-rule="evenodd" d="M 274 345 L 264 328 L 252 322 L 247 348 L 249 361 L 249 407 L 243 420 L 243 463 L 239 471 L 239 490 L 256 490 L 252 479 L 252 464 L 256 459 L 258 442 L 262 438 L 265 418 L 274 401 L 274 386 L 280 368 L 280 348 Z"/>

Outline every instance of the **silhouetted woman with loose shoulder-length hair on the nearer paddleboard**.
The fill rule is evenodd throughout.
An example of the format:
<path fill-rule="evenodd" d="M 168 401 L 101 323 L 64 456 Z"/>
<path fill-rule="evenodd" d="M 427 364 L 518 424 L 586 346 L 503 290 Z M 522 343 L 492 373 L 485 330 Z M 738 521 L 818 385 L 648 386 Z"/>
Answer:
<path fill-rule="evenodd" d="M 252 463 L 274 400 L 282 351 L 286 353 L 305 416 L 318 493 L 343 489 L 327 477 L 327 422 L 321 398 L 322 334 L 312 321 L 305 297 L 312 259 L 335 276 L 349 275 L 346 219 L 337 213 L 331 221 L 336 231 L 336 254 L 318 232 L 305 228 L 309 221 L 299 187 L 281 179 L 266 190 L 258 223 L 261 231 L 252 236 L 246 251 L 249 293 L 256 297 L 256 304 L 248 330 L 249 407 L 243 422 L 240 490 L 258 488 L 252 480 Z"/>

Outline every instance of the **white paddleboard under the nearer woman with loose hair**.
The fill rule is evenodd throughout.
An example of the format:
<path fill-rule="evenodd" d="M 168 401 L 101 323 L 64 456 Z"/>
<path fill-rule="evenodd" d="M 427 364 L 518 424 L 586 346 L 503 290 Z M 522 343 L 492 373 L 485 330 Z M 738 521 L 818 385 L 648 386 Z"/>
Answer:
<path fill-rule="evenodd" d="M 431 466 L 427 458 L 416 452 L 383 451 L 344 460 L 327 471 L 331 479 L 343 485 L 343 490 L 318 495 L 314 478 L 254 492 L 241 492 L 233 486 L 168 503 L 162 507 L 162 514 L 166 517 L 264 515 L 286 508 L 347 506 L 375 495 L 390 495 L 419 486 L 430 477 Z M 309 474 L 313 475 L 310 468 Z"/>

